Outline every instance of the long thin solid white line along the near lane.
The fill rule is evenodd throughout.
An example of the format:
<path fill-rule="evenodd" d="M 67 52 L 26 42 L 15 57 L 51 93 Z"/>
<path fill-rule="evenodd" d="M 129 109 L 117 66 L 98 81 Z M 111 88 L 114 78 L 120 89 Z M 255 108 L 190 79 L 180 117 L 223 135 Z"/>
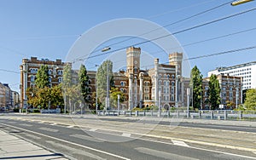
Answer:
<path fill-rule="evenodd" d="M 2 123 L 2 124 L 3 124 L 3 123 Z M 3 125 L 8 126 L 8 127 L 10 127 L 10 128 L 21 129 L 21 128 L 19 128 L 19 127 L 11 126 L 11 125 L 9 125 L 9 124 L 3 124 Z M 58 138 L 55 138 L 55 137 L 52 137 L 52 136 L 49 136 L 49 135 L 46 135 L 46 134 L 40 134 L 40 133 L 38 133 L 38 132 L 34 132 L 34 131 L 32 131 L 32 130 L 28 130 L 28 129 L 21 129 L 21 130 L 24 130 L 24 131 L 26 131 L 26 132 L 30 132 L 30 133 L 32 133 L 32 134 L 38 134 L 38 135 L 41 135 L 41 136 L 44 136 L 44 137 L 48 137 L 48 138 L 53 139 L 53 140 L 59 140 L 59 141 L 62 141 L 62 142 L 64 142 L 64 143 L 68 143 L 68 144 L 71 144 L 71 145 L 74 145 L 74 146 L 79 146 L 79 147 L 82 147 L 82 148 L 85 148 L 85 149 L 88 149 L 88 150 L 91 150 L 91 151 L 97 151 L 97 152 L 100 152 L 100 153 L 103 153 L 103 154 L 107 154 L 107 155 L 112 156 L 112 157 L 118 157 L 118 158 L 120 158 L 120 159 L 125 159 L 125 160 L 131 160 L 131 159 L 127 158 L 127 157 L 121 157 L 121 156 L 119 156 L 119 155 L 116 155 L 116 154 L 113 154 L 113 153 L 110 153 L 110 152 L 107 152 L 107 151 L 97 150 L 97 149 L 95 149 L 95 148 L 91 148 L 90 146 L 79 145 L 79 144 L 73 143 L 73 142 L 71 142 L 71 141 L 61 140 L 61 139 L 58 139 Z"/>

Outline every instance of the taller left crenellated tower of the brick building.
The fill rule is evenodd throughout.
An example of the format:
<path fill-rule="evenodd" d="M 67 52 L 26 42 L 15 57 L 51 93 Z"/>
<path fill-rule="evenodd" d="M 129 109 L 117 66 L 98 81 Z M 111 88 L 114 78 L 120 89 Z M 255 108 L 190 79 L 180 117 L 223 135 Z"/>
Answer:
<path fill-rule="evenodd" d="M 130 47 L 126 49 L 126 76 L 129 77 L 129 109 L 137 106 L 139 101 L 139 73 L 141 49 Z"/>

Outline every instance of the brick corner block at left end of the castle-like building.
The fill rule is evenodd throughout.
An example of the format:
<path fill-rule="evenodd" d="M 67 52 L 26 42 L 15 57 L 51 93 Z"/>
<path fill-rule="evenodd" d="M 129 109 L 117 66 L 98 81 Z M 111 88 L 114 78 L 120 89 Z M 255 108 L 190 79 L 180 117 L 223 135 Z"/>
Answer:
<path fill-rule="evenodd" d="M 49 87 L 62 82 L 65 63 L 61 60 L 38 60 L 37 57 L 31 57 L 30 60 L 23 59 L 20 65 L 20 107 L 27 106 L 26 89 L 35 86 L 36 74 L 43 65 L 48 66 Z"/>

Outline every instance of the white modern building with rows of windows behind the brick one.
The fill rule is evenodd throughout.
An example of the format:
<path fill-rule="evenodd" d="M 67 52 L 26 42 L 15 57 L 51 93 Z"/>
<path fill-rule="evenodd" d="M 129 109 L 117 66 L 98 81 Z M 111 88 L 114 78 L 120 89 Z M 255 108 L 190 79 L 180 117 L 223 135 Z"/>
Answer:
<path fill-rule="evenodd" d="M 242 77 L 242 89 L 256 89 L 256 61 L 229 67 L 218 67 L 215 70 L 208 71 L 208 77 L 212 74 L 230 75 Z"/>

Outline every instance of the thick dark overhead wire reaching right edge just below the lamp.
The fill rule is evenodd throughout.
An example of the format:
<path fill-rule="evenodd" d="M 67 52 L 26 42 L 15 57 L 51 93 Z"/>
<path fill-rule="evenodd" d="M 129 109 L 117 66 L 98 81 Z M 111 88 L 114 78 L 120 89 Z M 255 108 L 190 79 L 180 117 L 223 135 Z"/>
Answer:
<path fill-rule="evenodd" d="M 170 36 L 172 36 L 172 35 L 176 35 L 176 34 L 179 34 L 179 33 L 185 32 L 185 31 L 191 31 L 191 30 L 194 30 L 194 29 L 199 28 L 199 27 L 201 27 L 201 26 L 211 25 L 211 24 L 216 23 L 216 22 L 218 22 L 218 21 L 227 20 L 227 19 L 236 17 L 236 16 L 241 15 L 241 14 L 246 14 L 246 13 L 248 13 L 248 12 L 252 12 L 252 11 L 254 11 L 254 10 L 256 10 L 256 8 L 247 9 L 247 10 L 245 10 L 245 11 L 242 11 L 242 12 L 239 12 L 239 13 L 236 13 L 236 14 L 231 14 L 231 15 L 225 16 L 225 17 L 220 18 L 220 19 L 217 19 L 217 20 L 208 21 L 208 22 L 203 23 L 203 24 L 201 24 L 201 25 L 192 26 L 192 27 L 183 29 L 183 30 L 181 30 L 181 31 L 176 31 L 176 32 L 174 32 L 174 33 L 172 33 L 172 34 L 166 34 L 165 36 L 155 37 L 155 38 L 153 38 L 153 39 L 146 40 L 146 41 L 143 41 L 143 42 L 141 42 L 141 43 L 135 43 L 135 44 L 132 44 L 132 45 L 129 45 L 129 46 L 125 46 L 125 47 L 120 48 L 120 49 L 110 50 L 109 52 L 106 52 L 106 53 L 91 55 L 91 56 L 89 56 L 89 57 L 87 57 L 87 58 L 77 59 L 77 60 L 91 59 L 91 58 L 95 58 L 95 57 L 98 57 L 98 56 L 102 56 L 102 55 L 104 55 L 104 54 L 110 54 L 110 53 L 113 53 L 113 52 L 116 52 L 116 51 L 119 51 L 119 50 L 122 50 L 122 49 L 126 49 L 126 48 L 131 47 L 131 46 L 137 46 L 137 45 L 141 45 L 141 44 L 144 44 L 144 43 L 150 43 L 150 42 L 153 42 L 153 41 L 155 41 L 155 40 L 158 40 L 158 39 L 161 39 L 161 38 L 164 38 L 164 37 L 170 37 Z M 75 62 L 75 60 L 74 60 L 73 62 Z"/>

